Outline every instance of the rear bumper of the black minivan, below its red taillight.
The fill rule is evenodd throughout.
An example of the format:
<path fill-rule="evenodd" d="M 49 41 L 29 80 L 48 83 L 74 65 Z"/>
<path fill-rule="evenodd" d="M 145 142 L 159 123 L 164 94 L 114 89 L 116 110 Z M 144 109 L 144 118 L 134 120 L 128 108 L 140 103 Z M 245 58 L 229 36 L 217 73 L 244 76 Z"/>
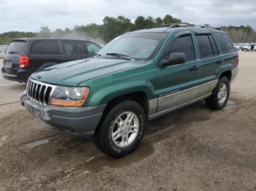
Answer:
<path fill-rule="evenodd" d="M 15 82 L 27 82 L 31 73 L 31 71 L 18 70 L 17 74 L 9 74 L 4 70 L 4 68 L 1 69 L 1 74 L 4 79 L 12 80 Z"/>

